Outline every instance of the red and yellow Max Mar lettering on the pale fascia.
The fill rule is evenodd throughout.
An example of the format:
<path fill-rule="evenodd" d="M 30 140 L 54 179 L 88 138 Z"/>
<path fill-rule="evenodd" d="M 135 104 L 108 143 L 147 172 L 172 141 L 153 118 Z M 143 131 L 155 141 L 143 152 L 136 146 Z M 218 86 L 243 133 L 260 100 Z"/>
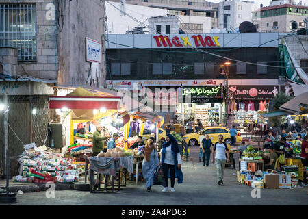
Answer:
<path fill-rule="evenodd" d="M 188 36 L 153 36 L 157 47 L 220 47 L 219 36 L 202 36 L 201 34 Z"/>

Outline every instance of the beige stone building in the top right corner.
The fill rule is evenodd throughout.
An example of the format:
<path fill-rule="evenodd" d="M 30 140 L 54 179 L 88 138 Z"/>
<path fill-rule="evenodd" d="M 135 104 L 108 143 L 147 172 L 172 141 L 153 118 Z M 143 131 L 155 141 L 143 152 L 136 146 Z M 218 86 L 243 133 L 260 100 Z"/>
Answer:
<path fill-rule="evenodd" d="M 284 1 L 282 1 L 284 3 Z M 296 22 L 297 29 L 305 28 L 304 19 L 308 16 L 308 6 L 270 5 L 253 12 L 253 24 L 259 32 L 290 32 L 292 23 Z"/>

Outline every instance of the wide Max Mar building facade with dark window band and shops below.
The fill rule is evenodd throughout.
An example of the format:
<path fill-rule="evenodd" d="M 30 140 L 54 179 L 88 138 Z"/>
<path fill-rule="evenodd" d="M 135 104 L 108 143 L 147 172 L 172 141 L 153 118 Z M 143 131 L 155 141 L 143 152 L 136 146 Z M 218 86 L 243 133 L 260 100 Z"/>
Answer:
<path fill-rule="evenodd" d="M 110 34 L 107 84 L 131 90 L 173 123 L 192 117 L 221 124 L 232 110 L 228 125 L 266 125 L 258 112 L 268 111 L 274 95 L 285 90 L 279 83 L 278 38 L 274 33 Z M 233 59 L 228 68 L 222 57 Z M 238 108 L 229 108 L 234 105 Z"/>

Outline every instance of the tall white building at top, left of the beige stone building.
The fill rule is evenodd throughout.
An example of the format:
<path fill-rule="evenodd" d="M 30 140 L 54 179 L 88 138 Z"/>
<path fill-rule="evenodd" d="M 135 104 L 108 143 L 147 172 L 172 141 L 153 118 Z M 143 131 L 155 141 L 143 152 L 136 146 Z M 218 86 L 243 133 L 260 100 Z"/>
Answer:
<path fill-rule="evenodd" d="M 253 2 L 241 0 L 221 1 L 219 3 L 219 29 L 230 31 L 238 29 L 244 21 L 251 21 Z"/>

